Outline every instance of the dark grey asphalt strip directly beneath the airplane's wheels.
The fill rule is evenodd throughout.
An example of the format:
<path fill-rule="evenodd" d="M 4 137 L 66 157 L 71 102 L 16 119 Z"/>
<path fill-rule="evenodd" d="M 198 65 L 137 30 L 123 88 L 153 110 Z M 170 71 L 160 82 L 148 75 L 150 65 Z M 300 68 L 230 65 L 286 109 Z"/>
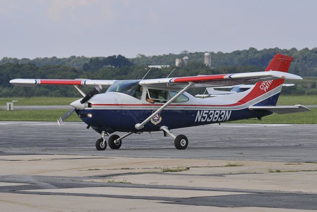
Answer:
<path fill-rule="evenodd" d="M 0 122 L 0 155 L 68 154 L 145 158 L 317 161 L 317 125 L 218 124 L 175 129 L 189 139 L 177 151 L 162 132 L 133 134 L 119 151 L 96 151 L 100 134 L 84 123 Z M 118 133 L 123 135 L 124 133 Z"/>

